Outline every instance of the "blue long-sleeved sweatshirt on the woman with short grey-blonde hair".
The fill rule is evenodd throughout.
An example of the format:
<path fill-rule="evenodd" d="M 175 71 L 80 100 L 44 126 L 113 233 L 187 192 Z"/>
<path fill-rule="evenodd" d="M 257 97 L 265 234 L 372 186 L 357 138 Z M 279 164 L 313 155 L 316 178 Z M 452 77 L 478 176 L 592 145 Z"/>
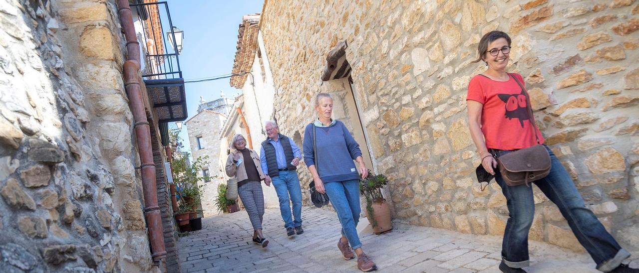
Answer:
<path fill-rule="evenodd" d="M 362 156 L 362 151 L 344 123 L 337 121 L 327 127 L 316 127 L 315 135 L 319 159 L 316 170 L 321 181 L 328 183 L 359 179 L 353 160 Z M 304 130 L 302 147 L 306 166 L 315 165 L 312 124 L 307 125 Z"/>

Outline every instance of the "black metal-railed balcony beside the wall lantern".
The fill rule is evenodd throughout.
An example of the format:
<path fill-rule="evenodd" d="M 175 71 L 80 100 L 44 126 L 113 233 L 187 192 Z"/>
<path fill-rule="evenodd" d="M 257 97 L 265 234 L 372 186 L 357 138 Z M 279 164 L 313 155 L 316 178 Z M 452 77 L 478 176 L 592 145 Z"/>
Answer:
<path fill-rule="evenodd" d="M 180 70 L 183 33 L 173 26 L 166 2 L 137 0 L 131 8 L 142 24 L 142 78 L 159 122 L 187 119 L 187 98 Z M 167 45 L 168 44 L 168 45 Z"/>

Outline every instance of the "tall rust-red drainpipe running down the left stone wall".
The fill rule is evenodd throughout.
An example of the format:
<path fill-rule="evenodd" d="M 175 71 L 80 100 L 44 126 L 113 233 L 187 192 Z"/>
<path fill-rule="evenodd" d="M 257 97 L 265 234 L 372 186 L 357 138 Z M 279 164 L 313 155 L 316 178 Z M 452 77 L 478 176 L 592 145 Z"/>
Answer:
<path fill-rule="evenodd" d="M 151 148 L 151 131 L 144 103 L 142 102 L 140 73 L 140 45 L 135 35 L 133 13 L 128 0 L 118 0 L 120 23 L 127 40 L 127 61 L 124 63 L 124 80 L 131 112 L 135 121 L 135 137 L 137 151 L 140 155 L 142 192 L 144 193 L 144 218 L 149 228 L 151 242 L 151 257 L 159 261 L 166 256 L 164 248 L 164 234 L 162 232 L 162 216 L 158 206 L 158 196 L 155 179 L 155 163 L 153 163 L 153 149 Z"/>

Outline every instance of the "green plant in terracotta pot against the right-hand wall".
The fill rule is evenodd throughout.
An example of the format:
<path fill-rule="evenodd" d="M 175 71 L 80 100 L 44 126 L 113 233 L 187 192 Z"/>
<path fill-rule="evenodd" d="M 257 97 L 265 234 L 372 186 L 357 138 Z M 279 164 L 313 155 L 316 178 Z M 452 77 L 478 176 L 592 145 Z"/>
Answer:
<path fill-rule="evenodd" d="M 373 175 L 371 172 L 366 179 L 360 179 L 360 193 L 366 198 L 366 218 L 375 234 L 389 232 L 393 228 L 389 204 L 381 196 L 381 188 L 388 183 L 385 175 Z"/>

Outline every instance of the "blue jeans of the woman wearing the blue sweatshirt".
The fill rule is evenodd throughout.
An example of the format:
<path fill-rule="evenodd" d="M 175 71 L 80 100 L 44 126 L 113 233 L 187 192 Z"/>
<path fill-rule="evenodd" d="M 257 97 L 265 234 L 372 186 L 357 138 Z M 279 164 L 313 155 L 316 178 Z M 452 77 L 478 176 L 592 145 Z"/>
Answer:
<path fill-rule="evenodd" d="M 324 189 L 337 212 L 339 223 L 342 224 L 342 235 L 346 236 L 353 249 L 362 247 L 356 229 L 359 214 L 362 212 L 359 203 L 359 180 L 328 182 L 324 184 Z"/>

